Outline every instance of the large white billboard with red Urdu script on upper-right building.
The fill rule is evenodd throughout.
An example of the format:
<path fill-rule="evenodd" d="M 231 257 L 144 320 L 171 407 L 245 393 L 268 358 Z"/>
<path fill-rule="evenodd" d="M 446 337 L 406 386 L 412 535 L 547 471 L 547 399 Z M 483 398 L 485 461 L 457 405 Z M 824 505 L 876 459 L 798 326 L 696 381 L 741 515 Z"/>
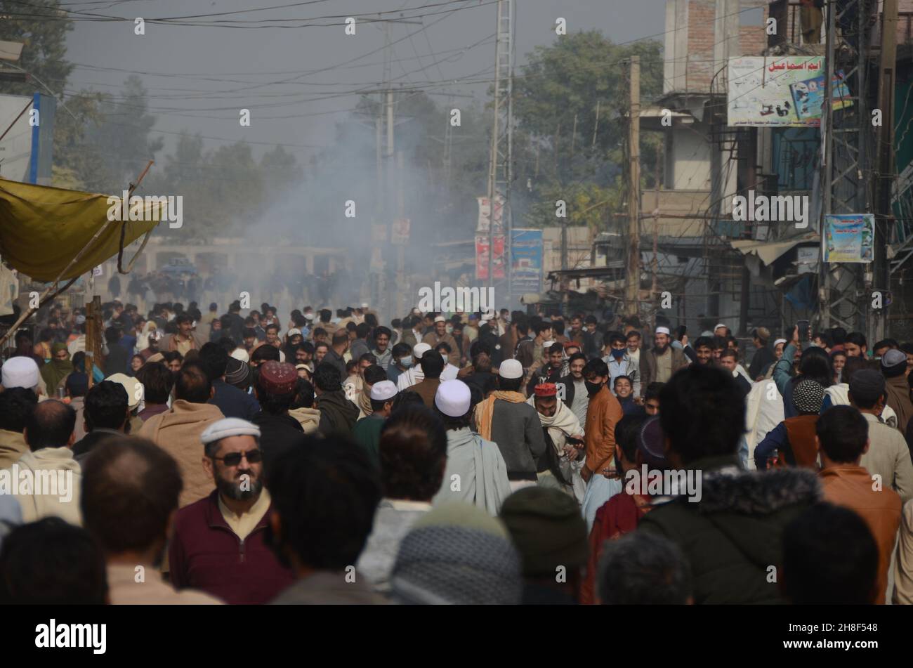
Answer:
<path fill-rule="evenodd" d="M 730 127 L 817 128 L 824 105 L 824 57 L 729 58 Z M 850 106 L 843 72 L 834 74 L 834 109 Z"/>

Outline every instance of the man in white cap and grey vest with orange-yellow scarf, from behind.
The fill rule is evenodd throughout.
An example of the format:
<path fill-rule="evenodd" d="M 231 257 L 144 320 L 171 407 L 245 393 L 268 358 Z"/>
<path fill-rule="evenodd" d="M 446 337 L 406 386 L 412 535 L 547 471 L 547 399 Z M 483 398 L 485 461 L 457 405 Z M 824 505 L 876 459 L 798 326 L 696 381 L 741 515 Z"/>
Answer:
<path fill-rule="evenodd" d="M 498 444 L 514 490 L 536 484 L 539 458 L 545 454 L 539 413 L 519 391 L 522 382 L 519 361 L 504 360 L 498 368 L 498 391 L 476 406 L 478 433 Z"/>

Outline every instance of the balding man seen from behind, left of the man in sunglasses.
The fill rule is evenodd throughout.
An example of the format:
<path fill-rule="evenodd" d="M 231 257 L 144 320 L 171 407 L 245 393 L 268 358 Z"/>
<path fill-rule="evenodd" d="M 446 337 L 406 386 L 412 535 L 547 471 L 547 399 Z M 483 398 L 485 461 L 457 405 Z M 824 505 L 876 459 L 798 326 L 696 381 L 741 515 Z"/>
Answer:
<path fill-rule="evenodd" d="M 99 444 L 82 467 L 83 525 L 104 550 L 111 604 L 221 602 L 202 591 L 177 592 L 159 574 L 181 485 L 173 457 L 136 436 Z"/>

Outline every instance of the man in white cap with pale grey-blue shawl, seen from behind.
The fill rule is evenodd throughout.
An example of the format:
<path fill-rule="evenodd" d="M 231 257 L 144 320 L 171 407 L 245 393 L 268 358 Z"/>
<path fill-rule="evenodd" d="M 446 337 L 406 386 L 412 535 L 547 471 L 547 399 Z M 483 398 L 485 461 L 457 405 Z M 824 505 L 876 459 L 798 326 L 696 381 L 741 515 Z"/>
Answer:
<path fill-rule="evenodd" d="M 472 431 L 471 400 L 463 381 L 444 381 L 437 388 L 435 412 L 447 430 L 447 460 L 444 483 L 431 503 L 462 501 L 497 516 L 511 492 L 508 468 L 498 446 Z M 528 407 L 535 414 L 536 409 Z M 538 417 L 536 429 L 541 434 Z"/>

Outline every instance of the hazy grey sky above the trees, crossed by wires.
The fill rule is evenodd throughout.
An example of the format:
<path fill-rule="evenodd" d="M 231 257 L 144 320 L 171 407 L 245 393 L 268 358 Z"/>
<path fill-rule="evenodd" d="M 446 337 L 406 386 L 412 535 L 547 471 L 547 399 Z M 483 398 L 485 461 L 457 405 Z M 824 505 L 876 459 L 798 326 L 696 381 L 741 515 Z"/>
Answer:
<path fill-rule="evenodd" d="M 143 36 L 134 34 L 132 21 L 136 16 L 152 20 L 289 4 L 283 0 L 68 3 L 73 12 L 131 19 L 117 22 L 71 15 L 85 20 L 79 20 L 68 37 L 68 58 L 78 64 L 68 92 L 93 88 L 118 94 L 124 78 L 141 73 L 151 110 L 158 117 L 155 129 L 163 132 L 166 150 L 174 133 L 187 129 L 214 138 L 206 141 L 210 147 L 238 140 L 262 142 L 263 148 L 281 143 L 304 159 L 312 151 L 309 147 L 328 143 L 333 123 L 354 107 L 358 97 L 352 91 L 382 86 L 384 25 L 394 42 L 390 67 L 394 85 L 441 93 L 443 97 L 435 99 L 443 102 L 447 92 L 481 98 L 486 83 L 473 85 L 458 79 L 493 76 L 497 4 L 492 0 L 310 0 L 298 6 L 185 19 L 230 20 L 242 27 L 147 23 Z M 516 5 L 518 63 L 524 62 L 532 47 L 555 39 L 559 16 L 567 20 L 569 32 L 598 29 L 616 42 L 665 29 L 666 0 L 518 0 Z M 461 9 L 446 12 L 453 7 Z M 356 16 L 358 22 L 359 14 L 390 11 L 403 11 L 412 17 L 407 20 L 418 23 L 356 23 L 354 36 L 344 34 L 345 16 Z M 249 23 L 264 19 L 297 19 L 290 24 L 298 27 Z M 251 111 L 250 127 L 239 123 L 242 108 Z"/>

